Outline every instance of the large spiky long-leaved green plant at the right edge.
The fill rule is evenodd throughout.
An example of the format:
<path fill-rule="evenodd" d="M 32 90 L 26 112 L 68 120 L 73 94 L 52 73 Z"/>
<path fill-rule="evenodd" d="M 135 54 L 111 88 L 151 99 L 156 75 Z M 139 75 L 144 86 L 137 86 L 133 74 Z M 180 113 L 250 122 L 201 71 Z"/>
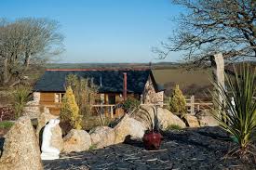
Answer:
<path fill-rule="evenodd" d="M 252 72 L 249 65 L 245 64 L 239 72 L 234 69 L 235 77 L 225 75 L 227 89 L 214 83 L 219 93 L 212 93 L 216 104 L 213 115 L 221 127 L 236 138 L 239 148 L 234 153 L 244 156 L 246 153 L 255 154 L 250 149 L 254 148 L 252 136 L 256 130 L 256 102 L 253 98 L 256 93 L 256 70 Z M 223 101 L 218 95 L 222 96 Z"/>

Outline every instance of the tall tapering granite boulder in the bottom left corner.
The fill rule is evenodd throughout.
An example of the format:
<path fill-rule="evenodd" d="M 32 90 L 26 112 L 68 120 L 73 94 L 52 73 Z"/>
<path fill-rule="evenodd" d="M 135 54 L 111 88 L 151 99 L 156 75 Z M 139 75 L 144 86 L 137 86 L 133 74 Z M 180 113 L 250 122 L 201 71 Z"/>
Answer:
<path fill-rule="evenodd" d="M 0 159 L 0 169 L 43 169 L 39 145 L 29 117 L 20 117 L 8 131 Z"/>

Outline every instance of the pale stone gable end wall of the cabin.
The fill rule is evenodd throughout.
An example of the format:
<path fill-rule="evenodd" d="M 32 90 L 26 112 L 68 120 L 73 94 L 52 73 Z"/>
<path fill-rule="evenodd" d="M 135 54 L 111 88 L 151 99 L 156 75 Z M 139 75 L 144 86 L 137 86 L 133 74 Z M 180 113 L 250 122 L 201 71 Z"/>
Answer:
<path fill-rule="evenodd" d="M 155 87 L 153 85 L 151 77 L 149 77 L 145 85 L 145 88 L 142 94 L 142 102 L 143 104 L 160 104 L 160 105 L 163 105 L 164 103 L 164 91 L 155 92 Z"/>

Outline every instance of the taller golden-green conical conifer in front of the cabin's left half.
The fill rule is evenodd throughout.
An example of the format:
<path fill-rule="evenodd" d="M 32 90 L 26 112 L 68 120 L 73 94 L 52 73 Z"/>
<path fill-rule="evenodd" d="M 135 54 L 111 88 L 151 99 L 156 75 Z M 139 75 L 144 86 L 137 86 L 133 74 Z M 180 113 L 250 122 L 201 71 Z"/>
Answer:
<path fill-rule="evenodd" d="M 61 125 L 74 129 L 81 129 L 82 116 L 79 114 L 79 108 L 75 102 L 74 93 L 71 86 L 68 86 L 61 102 Z M 63 127 L 63 131 L 68 131 Z"/>

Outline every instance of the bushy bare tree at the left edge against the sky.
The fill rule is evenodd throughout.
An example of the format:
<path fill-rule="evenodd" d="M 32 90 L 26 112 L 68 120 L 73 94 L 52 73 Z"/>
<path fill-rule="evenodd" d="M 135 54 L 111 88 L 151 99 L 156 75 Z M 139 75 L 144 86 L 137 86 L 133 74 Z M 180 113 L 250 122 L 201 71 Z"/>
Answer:
<path fill-rule="evenodd" d="M 63 36 L 55 20 L 0 20 L 2 85 L 17 85 L 32 65 L 42 65 L 63 50 Z"/>

